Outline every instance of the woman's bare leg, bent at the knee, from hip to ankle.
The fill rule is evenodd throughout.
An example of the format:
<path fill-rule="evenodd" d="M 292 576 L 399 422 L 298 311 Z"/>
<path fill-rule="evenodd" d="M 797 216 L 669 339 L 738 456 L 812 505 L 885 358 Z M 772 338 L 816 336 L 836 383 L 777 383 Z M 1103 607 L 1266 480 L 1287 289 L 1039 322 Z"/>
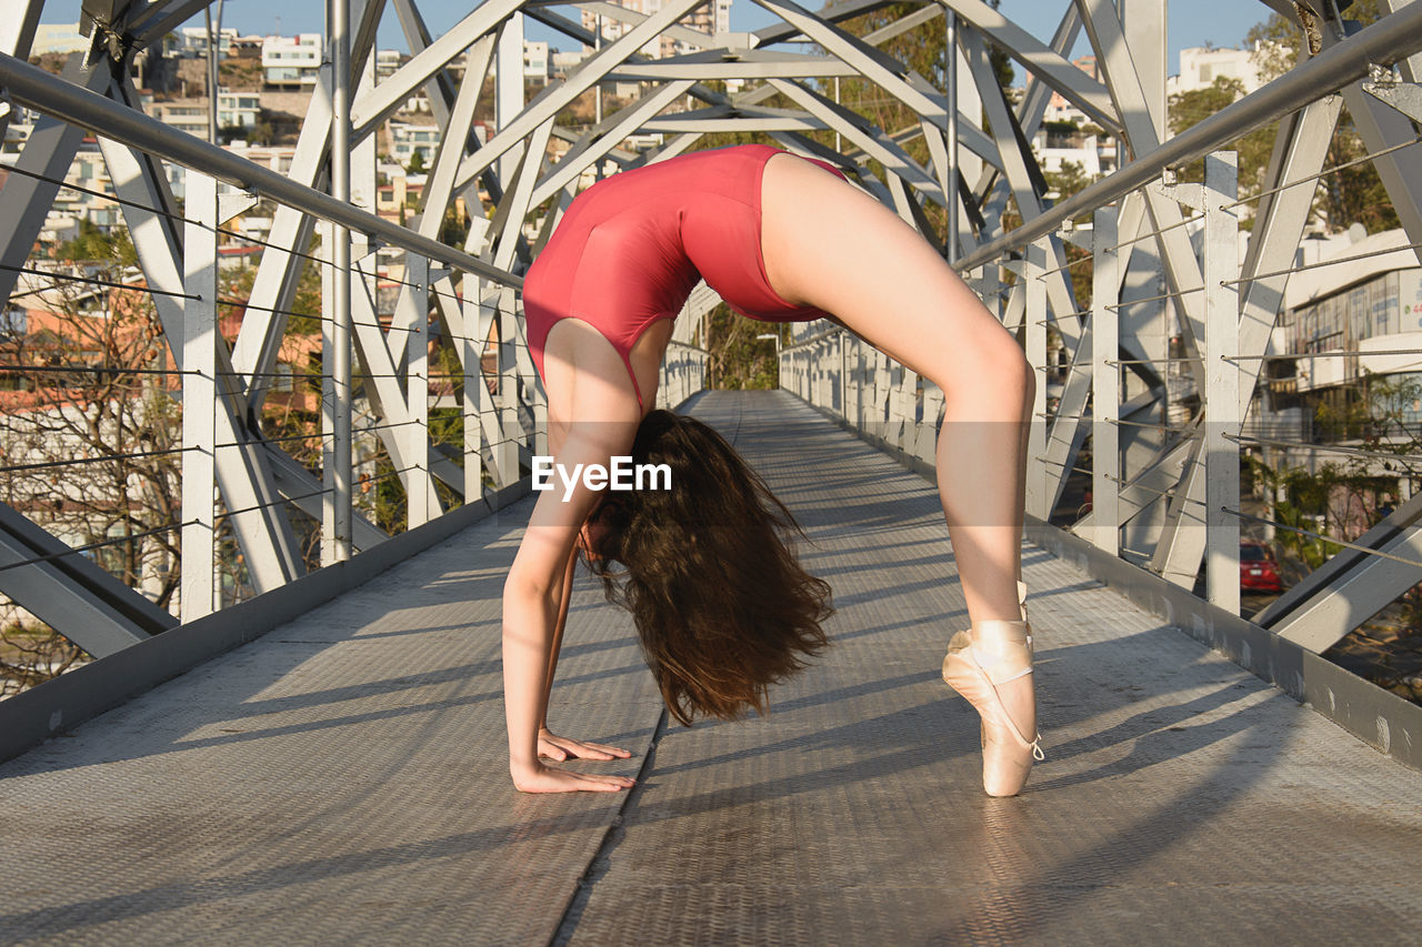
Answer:
<path fill-rule="evenodd" d="M 939 498 L 968 616 L 975 628 L 1020 619 L 1034 378 L 1017 341 L 916 230 L 808 162 L 772 158 L 766 165 L 762 247 L 781 296 L 833 313 L 943 390 Z M 1032 675 L 998 692 L 1031 738 Z"/>

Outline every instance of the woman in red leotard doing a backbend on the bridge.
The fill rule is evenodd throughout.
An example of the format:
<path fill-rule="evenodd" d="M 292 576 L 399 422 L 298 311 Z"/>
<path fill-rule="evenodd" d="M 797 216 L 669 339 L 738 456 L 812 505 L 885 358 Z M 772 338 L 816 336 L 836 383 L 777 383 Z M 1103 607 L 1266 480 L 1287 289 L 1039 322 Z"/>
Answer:
<path fill-rule="evenodd" d="M 599 182 L 569 208 L 523 286 L 555 462 L 671 466 L 665 492 L 579 482 L 543 492 L 503 587 L 509 771 L 523 792 L 616 791 L 624 776 L 540 758 L 627 751 L 556 737 L 547 697 L 582 547 L 626 566 L 647 663 L 670 711 L 738 717 L 825 644 L 828 587 L 781 532 L 789 513 L 710 428 L 648 414 L 671 320 L 700 279 L 745 316 L 830 316 L 937 384 L 937 481 L 971 630 L 943 674 L 983 718 L 983 782 L 1014 795 L 1037 748 L 1020 596 L 1032 373 L 943 257 L 830 165 L 765 145 L 673 158 Z M 646 422 L 644 422 L 646 419 Z M 584 468 L 586 469 L 586 468 Z"/>

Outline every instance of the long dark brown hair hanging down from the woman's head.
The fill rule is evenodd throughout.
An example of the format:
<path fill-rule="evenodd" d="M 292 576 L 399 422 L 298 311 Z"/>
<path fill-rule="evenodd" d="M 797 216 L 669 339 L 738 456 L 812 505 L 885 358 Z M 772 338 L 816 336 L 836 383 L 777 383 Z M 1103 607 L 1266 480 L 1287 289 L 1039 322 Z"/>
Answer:
<path fill-rule="evenodd" d="M 604 493 L 584 562 L 627 607 L 667 710 L 765 714 L 769 685 L 829 644 L 829 586 L 801 569 L 791 512 L 712 428 L 653 411 L 636 464 L 665 464 L 671 489 Z M 611 560 L 626 570 L 617 570 Z"/>

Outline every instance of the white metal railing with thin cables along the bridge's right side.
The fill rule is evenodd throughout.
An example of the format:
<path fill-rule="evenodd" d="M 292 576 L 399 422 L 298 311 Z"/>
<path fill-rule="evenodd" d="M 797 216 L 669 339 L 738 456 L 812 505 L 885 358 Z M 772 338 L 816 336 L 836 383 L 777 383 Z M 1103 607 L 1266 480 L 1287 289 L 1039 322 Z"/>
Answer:
<path fill-rule="evenodd" d="M 1389 20 L 1335 41 L 1017 229 L 983 235 L 978 245 L 971 235 L 961 240 L 954 267 L 1017 334 L 1038 373 L 1030 516 L 1199 589 L 1234 614 L 1241 610 L 1241 539 L 1322 539 L 1313 520 L 1280 513 L 1283 498 L 1264 489 L 1260 472 L 1280 469 L 1287 451 L 1294 459 L 1297 452 L 1327 459 L 1369 445 L 1300 438 L 1313 425 L 1297 410 L 1268 418 L 1260 411 L 1277 407 L 1271 394 L 1288 378 L 1308 374 L 1304 355 L 1318 348 L 1287 321 L 1290 277 L 1359 259 L 1305 262 L 1301 250 L 1320 182 L 1359 164 L 1324 166 L 1338 90 L 1365 80 L 1371 100 L 1422 119 L 1415 114 L 1422 90 L 1405 61 L 1422 47 L 1422 34 L 1399 33 L 1404 17 L 1418 21 L 1422 6 L 1401 6 Z M 1391 68 L 1399 60 L 1401 73 Z M 1351 108 L 1362 111 L 1357 102 Z M 1267 179 L 1241 198 L 1237 159 L 1227 149 L 1276 121 Z M 1404 125 L 1381 144 L 1372 137 L 1362 161 L 1385 169 L 1399 154 L 1415 158 L 1422 145 Z M 1199 179 L 1183 181 L 1202 159 Z M 1422 219 L 1412 183 L 1388 173 L 1384 181 L 1405 236 L 1364 259 L 1394 253 L 1395 267 L 1415 267 Z M 967 222 L 963 229 L 970 232 Z M 1392 311 L 1394 320 L 1406 313 L 1395 299 Z M 1412 320 L 1411 328 L 1391 323 L 1361 354 L 1355 341 L 1340 341 L 1338 351 L 1318 353 L 1318 364 L 1361 357 L 1392 373 L 1415 371 L 1411 353 L 1422 348 L 1422 321 Z M 931 468 L 943 392 L 849 333 L 803 331 L 782 351 L 781 385 L 909 464 Z M 1391 476 L 1396 506 L 1381 509 L 1371 529 L 1334 522 L 1325 549 L 1341 552 L 1254 617 L 1308 650 L 1331 647 L 1422 582 L 1422 499 L 1408 499 L 1418 492 L 1412 478 L 1422 456 L 1415 441 L 1396 439 L 1372 445 L 1371 454 L 1379 465 L 1394 464 L 1391 474 L 1381 466 L 1378 474 Z M 1253 465 L 1254 489 L 1241 493 L 1250 455 L 1261 464 Z"/>

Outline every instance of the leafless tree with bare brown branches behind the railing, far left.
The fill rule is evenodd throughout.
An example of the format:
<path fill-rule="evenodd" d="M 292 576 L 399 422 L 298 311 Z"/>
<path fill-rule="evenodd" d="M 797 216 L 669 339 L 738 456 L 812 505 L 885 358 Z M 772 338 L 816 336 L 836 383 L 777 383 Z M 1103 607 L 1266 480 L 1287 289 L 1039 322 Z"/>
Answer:
<path fill-rule="evenodd" d="M 127 236 L 81 229 L 60 253 L 73 272 L 122 282 Z M 80 262 L 88 255 L 91 259 Z M 55 280 L 0 343 L 0 499 L 125 584 L 171 607 L 178 589 L 182 429 L 176 374 L 152 297 Z M 53 630 L 0 614 L 0 675 L 16 690 L 82 653 Z"/>

